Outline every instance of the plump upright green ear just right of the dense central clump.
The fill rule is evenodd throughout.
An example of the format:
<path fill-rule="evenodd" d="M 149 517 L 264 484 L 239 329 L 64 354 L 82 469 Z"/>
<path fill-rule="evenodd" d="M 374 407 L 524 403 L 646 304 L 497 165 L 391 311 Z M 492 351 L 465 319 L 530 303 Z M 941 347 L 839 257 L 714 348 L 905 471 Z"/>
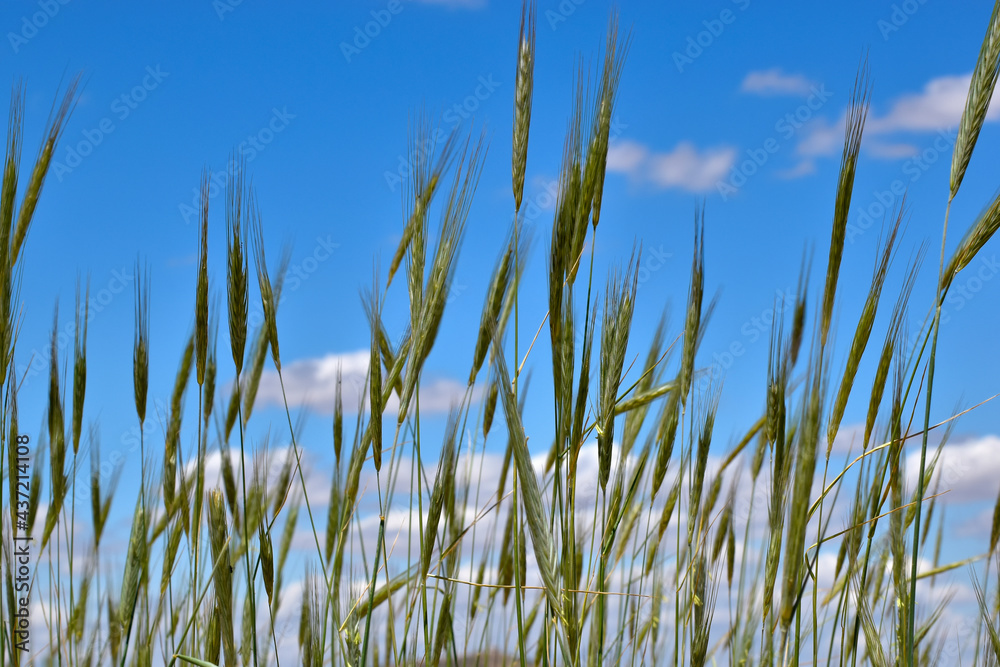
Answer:
<path fill-rule="evenodd" d="M 635 261 L 637 263 L 637 260 Z M 601 327 L 600 394 L 598 396 L 597 457 L 598 481 L 606 490 L 611 473 L 611 444 L 615 431 L 615 403 L 621 385 L 625 353 L 632 329 L 638 273 L 629 262 L 624 278 L 612 274 L 604 302 L 604 322 Z"/>

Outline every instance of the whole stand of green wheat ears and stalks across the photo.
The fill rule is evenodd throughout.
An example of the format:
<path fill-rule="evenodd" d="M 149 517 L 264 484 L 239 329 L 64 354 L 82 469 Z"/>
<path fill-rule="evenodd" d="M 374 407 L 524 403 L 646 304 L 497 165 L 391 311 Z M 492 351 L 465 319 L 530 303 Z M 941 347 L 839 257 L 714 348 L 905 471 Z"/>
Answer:
<path fill-rule="evenodd" d="M 1000 2 L 958 129 L 934 300 L 909 349 L 909 302 L 922 256 L 917 252 L 903 271 L 888 322 L 880 325 L 884 340 L 870 352 L 877 363 L 868 379 L 860 453 L 838 472 L 829 470 L 831 448 L 878 313 L 885 310 L 882 290 L 904 217 L 898 209 L 887 219 L 846 362 L 834 368 L 828 343 L 869 104 L 867 69 L 858 73 L 847 114 L 822 290 L 810 300 L 804 263 L 794 301 L 771 331 L 762 414 L 720 463 L 709 465 L 719 388 L 696 382 L 699 344 L 714 306 L 704 303 L 703 211 L 695 216 L 683 328 L 671 341 L 661 323 L 634 371 L 626 362 L 636 258 L 608 277 L 603 304 L 594 296 L 609 130 L 627 44 L 612 17 L 599 75 L 593 85 L 583 83 L 588 78 L 582 71 L 579 77 L 547 251 L 548 312 L 519 314 L 528 242 L 515 222 L 485 297 L 468 389 L 449 416 L 437 461 L 421 455 L 421 370 L 442 321 L 485 148 L 482 138 L 453 134 L 431 154 L 423 150 L 427 124 L 414 124 L 402 240 L 388 272 L 375 276 L 364 297 L 371 355 L 353 434 L 348 424 L 345 435 L 338 383 L 331 438 L 336 466 L 328 498 L 309 496 L 287 400 L 290 447 L 277 474 L 267 474 L 266 445 L 246 442 L 268 356 L 282 378 L 277 304 L 288 254 L 268 267 L 260 210 L 242 172 L 237 174 L 225 204 L 227 308 L 220 312 L 209 297 L 209 184 L 203 180 L 194 331 L 183 347 L 165 435 L 146 438 L 149 429 L 142 430 L 142 484 L 124 558 L 104 548 L 116 485 L 100 472 L 99 429 L 81 433 L 88 299 L 79 298 L 79 287 L 72 384 L 60 377 L 54 329 L 48 432 L 32 439 L 30 499 L 26 517 L 18 514 L 24 507 L 13 474 L 20 433 L 14 364 L 18 260 L 77 87 L 71 85 L 55 107 L 19 205 L 23 105 L 15 90 L 0 198 L 0 469 L 9 488 L 3 498 L 9 514 L 3 512 L 0 660 L 909 666 L 965 656 L 975 664 L 997 664 L 1000 590 L 994 588 L 1000 587 L 990 574 L 1000 568 L 1000 499 L 985 554 L 941 564 L 944 522 L 940 516 L 932 521 L 937 489 L 931 488 L 940 445 L 929 446 L 928 436 L 940 426 L 930 423 L 930 406 L 942 303 L 955 276 L 1000 226 L 1000 197 L 994 197 L 954 253 L 945 254 L 947 210 L 959 193 L 1000 67 Z M 515 213 L 528 159 L 534 60 L 535 10 L 525 6 L 513 105 Z M 433 233 L 432 213 L 440 216 Z M 581 268 L 587 272 L 582 303 Z M 397 288 L 408 295 L 409 319 L 405 331 L 394 335 L 384 324 L 383 305 L 397 276 Z M 259 293 L 264 315 L 256 331 L 248 330 L 251 291 L 253 298 Z M 153 352 L 150 305 L 148 273 L 138 272 L 133 362 L 140 428 Z M 522 425 L 529 389 L 522 370 L 526 361 L 537 366 L 538 360 L 532 341 L 519 336 L 519 315 L 527 323 L 543 321 L 538 333 L 547 327 L 553 351 L 554 437 L 544 467 L 533 462 Z M 236 369 L 226 391 L 217 386 L 217 330 L 224 316 Z M 508 329 L 511 335 L 505 335 Z M 525 330 L 533 332 L 534 324 Z M 515 363 L 508 366 L 509 360 Z M 197 424 L 182 428 L 192 371 Z M 71 386 L 71 414 L 60 383 Z M 394 422 L 390 405 L 398 406 Z M 498 406 L 506 447 L 502 465 L 484 475 Z M 88 513 L 81 439 L 91 453 L 89 532 L 77 517 Z M 580 454 L 593 439 L 597 479 L 583 479 Z M 943 445 L 947 436 L 935 439 Z M 915 488 L 907 488 L 901 465 L 908 441 L 920 451 Z M 218 480 L 206 479 L 212 456 L 221 463 Z M 312 470 L 310 477 L 319 472 Z M 758 495 L 764 498 L 757 508 L 762 518 L 754 523 Z M 378 503 L 374 544 L 374 531 L 364 539 L 370 522 L 359 509 L 363 498 L 369 507 Z M 749 507 L 740 504 L 747 498 Z M 407 517 L 402 543 L 393 537 L 390 544 L 390 512 Z M 310 546 L 305 571 L 293 572 L 288 556 L 302 514 Z M 840 524 L 831 526 L 834 516 Z M 34 539 L 30 582 L 41 611 L 33 613 L 44 618 L 44 625 L 35 624 L 28 652 L 19 650 L 15 634 L 20 593 L 12 526 L 19 519 L 26 523 L 21 532 Z M 934 532 L 936 541 L 929 541 Z M 836 551 L 835 565 L 821 563 L 821 546 Z M 932 565 L 918 571 L 918 561 Z M 949 644 L 953 628 L 941 622 L 945 602 L 918 601 L 917 585 L 958 567 L 970 570 L 980 614 L 956 652 Z M 298 609 L 287 608 L 288 599 L 295 599 L 293 576 L 302 582 Z M 720 591 L 726 600 L 721 606 Z M 279 618 L 291 631 L 279 628 Z"/>

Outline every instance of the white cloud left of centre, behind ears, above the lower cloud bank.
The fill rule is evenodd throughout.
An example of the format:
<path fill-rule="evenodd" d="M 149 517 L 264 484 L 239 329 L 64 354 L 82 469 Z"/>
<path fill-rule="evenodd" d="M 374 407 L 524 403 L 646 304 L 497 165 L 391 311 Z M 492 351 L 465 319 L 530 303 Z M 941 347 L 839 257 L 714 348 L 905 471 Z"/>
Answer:
<path fill-rule="evenodd" d="M 316 359 L 300 359 L 282 368 L 285 394 L 290 406 L 307 406 L 324 414 L 332 414 L 337 391 L 337 369 L 343 374 L 341 390 L 344 412 L 357 414 L 364 404 L 365 379 L 368 375 L 368 350 L 328 354 Z M 420 409 L 428 413 L 447 412 L 461 402 L 466 391 L 464 383 L 450 378 L 427 379 L 420 385 Z M 478 395 L 478 394 L 476 394 Z M 265 372 L 260 379 L 257 401 L 262 405 L 284 405 L 281 383 L 275 371 Z M 395 414 L 399 401 L 395 394 L 386 405 L 388 414 Z"/>

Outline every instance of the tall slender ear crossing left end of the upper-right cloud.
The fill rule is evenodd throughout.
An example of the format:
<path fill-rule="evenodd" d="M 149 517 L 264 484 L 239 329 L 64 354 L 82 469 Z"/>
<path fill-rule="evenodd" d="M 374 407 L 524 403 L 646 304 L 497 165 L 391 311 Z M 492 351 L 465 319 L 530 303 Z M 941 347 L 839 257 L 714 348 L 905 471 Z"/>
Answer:
<path fill-rule="evenodd" d="M 840 157 L 840 175 L 837 180 L 837 195 L 833 209 L 833 231 L 830 236 L 830 258 L 826 267 L 826 285 L 823 289 L 823 309 L 820 320 L 820 345 L 826 345 L 833 319 L 833 301 L 837 293 L 837 280 L 840 276 L 840 262 L 844 256 L 844 240 L 847 231 L 847 215 L 851 208 L 851 195 L 854 192 L 854 174 L 858 164 L 858 152 L 861 150 L 861 136 L 864 133 L 865 119 L 868 116 L 868 105 L 871 99 L 871 88 L 868 84 L 868 61 L 861 63 L 857 77 L 854 80 L 854 90 L 847 109 L 847 121 L 844 127 L 844 150 Z"/>

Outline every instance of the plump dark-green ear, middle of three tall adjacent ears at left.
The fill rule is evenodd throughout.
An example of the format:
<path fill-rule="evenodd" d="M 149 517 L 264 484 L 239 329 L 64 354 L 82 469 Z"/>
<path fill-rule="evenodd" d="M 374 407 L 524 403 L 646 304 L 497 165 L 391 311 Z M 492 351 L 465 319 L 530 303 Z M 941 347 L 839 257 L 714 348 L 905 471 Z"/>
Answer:
<path fill-rule="evenodd" d="M 236 376 L 243 372 L 243 352 L 247 342 L 247 256 L 244 252 L 247 211 L 246 190 L 240 164 L 226 188 L 226 287 L 229 302 L 229 344 Z"/>

